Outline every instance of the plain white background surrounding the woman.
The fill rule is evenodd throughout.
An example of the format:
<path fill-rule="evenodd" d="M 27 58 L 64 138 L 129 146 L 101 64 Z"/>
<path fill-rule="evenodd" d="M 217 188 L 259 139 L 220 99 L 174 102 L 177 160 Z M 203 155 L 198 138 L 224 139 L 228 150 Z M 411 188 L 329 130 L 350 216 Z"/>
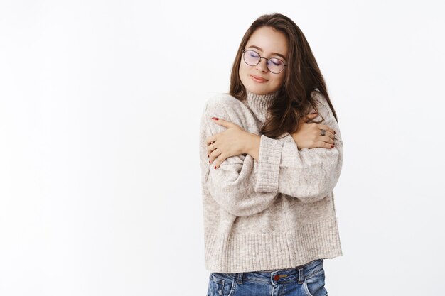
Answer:
<path fill-rule="evenodd" d="M 441 295 L 441 1 L 1 1 L 0 295 L 205 295 L 198 128 L 292 18 L 344 142 L 329 295 Z"/>

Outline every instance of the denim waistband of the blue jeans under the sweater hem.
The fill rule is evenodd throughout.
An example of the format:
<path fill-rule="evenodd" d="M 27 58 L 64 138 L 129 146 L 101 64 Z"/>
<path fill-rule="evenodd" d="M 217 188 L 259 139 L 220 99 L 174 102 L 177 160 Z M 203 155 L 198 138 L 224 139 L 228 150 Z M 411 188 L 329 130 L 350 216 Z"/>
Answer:
<path fill-rule="evenodd" d="M 323 269 L 323 259 L 316 259 L 304 265 L 295 268 L 286 268 L 273 271 L 252 271 L 247 273 L 210 273 L 210 277 L 236 280 L 242 284 L 242 281 L 260 282 L 260 283 L 287 283 L 297 281 L 303 283 L 305 278 L 317 273 Z"/>

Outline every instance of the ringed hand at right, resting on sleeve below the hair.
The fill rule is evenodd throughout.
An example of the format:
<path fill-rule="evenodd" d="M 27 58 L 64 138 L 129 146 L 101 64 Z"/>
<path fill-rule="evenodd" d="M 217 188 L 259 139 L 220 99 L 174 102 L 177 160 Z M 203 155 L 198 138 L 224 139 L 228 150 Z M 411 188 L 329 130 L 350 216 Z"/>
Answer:
<path fill-rule="evenodd" d="M 299 123 L 299 128 L 295 133 L 291 133 L 292 138 L 299 150 L 303 148 L 333 148 L 335 131 L 324 124 L 308 123 L 314 119 L 316 114 L 308 114 Z M 326 130 L 325 136 L 321 136 L 321 129 Z"/>

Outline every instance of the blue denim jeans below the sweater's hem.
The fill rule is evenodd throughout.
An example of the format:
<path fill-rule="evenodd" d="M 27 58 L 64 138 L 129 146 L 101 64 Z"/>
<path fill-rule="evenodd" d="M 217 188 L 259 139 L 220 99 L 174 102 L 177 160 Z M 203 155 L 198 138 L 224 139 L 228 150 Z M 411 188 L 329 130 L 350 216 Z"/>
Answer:
<path fill-rule="evenodd" d="M 210 273 L 207 296 L 326 296 L 323 259 L 296 268 Z"/>

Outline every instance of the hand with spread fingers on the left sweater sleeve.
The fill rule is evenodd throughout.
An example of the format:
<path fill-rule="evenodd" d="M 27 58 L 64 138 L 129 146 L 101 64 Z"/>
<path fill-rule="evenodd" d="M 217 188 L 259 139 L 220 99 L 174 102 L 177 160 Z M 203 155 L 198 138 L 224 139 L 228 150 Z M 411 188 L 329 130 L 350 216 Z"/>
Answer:
<path fill-rule="evenodd" d="M 230 121 L 224 119 L 216 120 L 213 118 L 212 120 L 215 124 L 227 128 L 227 130 L 215 133 L 215 135 L 205 139 L 209 161 L 213 163 L 213 160 L 215 160 L 214 168 L 217 169 L 227 158 L 247 153 L 246 148 L 250 133 Z"/>

